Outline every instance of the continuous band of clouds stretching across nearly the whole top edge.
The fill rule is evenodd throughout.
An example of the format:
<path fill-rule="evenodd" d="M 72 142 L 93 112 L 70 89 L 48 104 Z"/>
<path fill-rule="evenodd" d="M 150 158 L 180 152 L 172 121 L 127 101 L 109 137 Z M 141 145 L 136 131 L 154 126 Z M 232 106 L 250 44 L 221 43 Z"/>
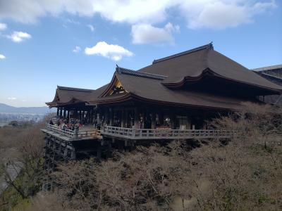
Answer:
<path fill-rule="evenodd" d="M 192 29 L 222 29 L 254 21 L 255 15 L 276 7 L 275 0 L 9 0 L 1 1 L 0 19 L 12 18 L 22 23 L 35 23 L 45 15 L 93 16 L 121 23 L 161 23 L 173 15 L 185 18 Z"/>

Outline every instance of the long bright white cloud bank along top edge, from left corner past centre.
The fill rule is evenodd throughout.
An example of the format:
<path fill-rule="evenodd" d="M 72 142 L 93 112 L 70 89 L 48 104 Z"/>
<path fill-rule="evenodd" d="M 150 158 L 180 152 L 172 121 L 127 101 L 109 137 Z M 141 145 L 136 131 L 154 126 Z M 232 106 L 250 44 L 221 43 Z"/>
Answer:
<path fill-rule="evenodd" d="M 155 22 L 164 20 L 168 4 L 171 4 L 171 0 L 9 0 L 1 1 L 0 19 L 13 18 L 22 23 L 35 23 L 38 18 L 47 14 L 59 15 L 67 12 L 83 16 L 99 13 L 102 17 L 116 22 Z"/>

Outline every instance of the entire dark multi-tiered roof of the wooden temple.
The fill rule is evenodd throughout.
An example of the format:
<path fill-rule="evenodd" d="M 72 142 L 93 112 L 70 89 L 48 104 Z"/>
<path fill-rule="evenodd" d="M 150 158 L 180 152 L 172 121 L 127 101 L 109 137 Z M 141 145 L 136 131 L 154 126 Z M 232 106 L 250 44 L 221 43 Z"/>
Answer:
<path fill-rule="evenodd" d="M 256 89 L 273 94 L 282 90 L 282 87 L 277 84 L 269 82 L 255 72 L 214 51 L 212 44 L 208 44 L 154 60 L 152 65 L 138 71 L 117 67 L 111 82 L 96 90 L 57 87 L 54 100 L 47 105 L 62 106 L 81 102 L 87 105 L 99 105 L 135 98 L 140 101 L 178 106 L 228 110 L 240 110 L 244 107 L 243 101 L 246 100 L 234 96 L 205 93 L 195 89 L 171 89 L 173 86 L 179 88 L 185 82 L 201 80 L 205 74 L 233 84 L 245 84 L 244 89 Z M 117 84 L 122 87 L 123 91 L 112 94 Z M 252 101 L 255 99 L 252 98 Z"/>

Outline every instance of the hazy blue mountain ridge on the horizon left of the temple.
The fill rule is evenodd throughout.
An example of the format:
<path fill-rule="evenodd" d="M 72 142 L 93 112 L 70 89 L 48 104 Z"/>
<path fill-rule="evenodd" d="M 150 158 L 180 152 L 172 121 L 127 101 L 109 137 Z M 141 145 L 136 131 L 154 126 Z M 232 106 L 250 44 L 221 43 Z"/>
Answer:
<path fill-rule="evenodd" d="M 0 103 L 0 113 L 28 113 L 28 114 L 37 114 L 44 115 L 46 113 L 56 112 L 55 108 L 48 108 L 47 106 L 42 107 L 13 107 L 8 106 L 4 103 Z"/>

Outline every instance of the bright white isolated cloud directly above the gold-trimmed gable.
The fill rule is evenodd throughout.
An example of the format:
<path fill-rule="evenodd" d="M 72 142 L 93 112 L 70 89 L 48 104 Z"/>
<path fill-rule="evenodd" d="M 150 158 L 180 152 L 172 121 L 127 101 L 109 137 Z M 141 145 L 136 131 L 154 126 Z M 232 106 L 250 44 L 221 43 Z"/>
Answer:
<path fill-rule="evenodd" d="M 92 48 L 85 48 L 87 55 L 99 55 L 111 60 L 121 60 L 123 56 L 133 56 L 133 53 L 124 49 L 122 46 L 107 44 L 105 41 L 99 41 Z"/>

